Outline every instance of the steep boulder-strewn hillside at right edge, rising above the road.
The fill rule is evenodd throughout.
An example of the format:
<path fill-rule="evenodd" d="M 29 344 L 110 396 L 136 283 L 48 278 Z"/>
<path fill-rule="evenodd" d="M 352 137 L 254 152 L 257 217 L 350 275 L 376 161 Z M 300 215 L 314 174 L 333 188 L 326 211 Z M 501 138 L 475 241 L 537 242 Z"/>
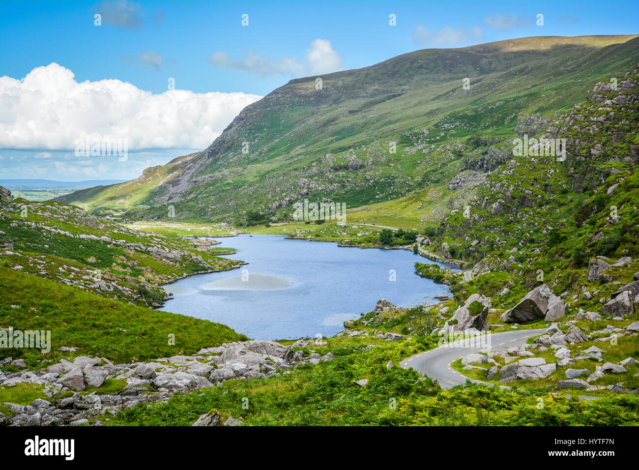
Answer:
<path fill-rule="evenodd" d="M 440 224 L 428 249 L 475 262 L 476 274 L 523 276 L 528 287 L 541 270 L 561 290 L 592 256 L 639 256 L 639 66 L 613 81 L 539 129 L 532 116 L 520 133 L 565 138 L 565 161 L 511 155 Z"/>

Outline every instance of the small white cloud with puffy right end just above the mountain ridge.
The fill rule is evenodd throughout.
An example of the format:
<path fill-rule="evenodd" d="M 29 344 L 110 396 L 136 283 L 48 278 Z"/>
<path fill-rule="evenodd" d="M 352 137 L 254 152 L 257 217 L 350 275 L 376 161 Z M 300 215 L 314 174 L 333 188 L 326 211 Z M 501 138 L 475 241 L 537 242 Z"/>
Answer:
<path fill-rule="evenodd" d="M 339 70 L 343 63 L 343 58 L 339 52 L 335 51 L 326 39 L 314 40 L 306 49 L 304 61 L 294 57 L 284 56 L 274 59 L 269 56 L 261 56 L 254 51 L 244 52 L 242 59 L 236 60 L 231 54 L 224 51 L 214 52 L 209 58 L 209 62 L 216 67 L 238 70 L 240 72 L 250 72 L 261 75 L 321 75 Z"/>

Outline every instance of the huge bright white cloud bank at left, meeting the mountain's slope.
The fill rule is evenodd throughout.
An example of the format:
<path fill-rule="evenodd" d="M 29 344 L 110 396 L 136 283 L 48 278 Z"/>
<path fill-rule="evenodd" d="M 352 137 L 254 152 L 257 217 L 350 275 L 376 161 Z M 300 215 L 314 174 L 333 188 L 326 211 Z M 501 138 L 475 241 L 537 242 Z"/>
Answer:
<path fill-rule="evenodd" d="M 72 150 L 79 139 L 127 139 L 128 150 L 206 148 L 247 93 L 169 90 L 153 95 L 119 80 L 77 82 L 56 63 L 24 81 L 0 77 L 0 148 Z"/>

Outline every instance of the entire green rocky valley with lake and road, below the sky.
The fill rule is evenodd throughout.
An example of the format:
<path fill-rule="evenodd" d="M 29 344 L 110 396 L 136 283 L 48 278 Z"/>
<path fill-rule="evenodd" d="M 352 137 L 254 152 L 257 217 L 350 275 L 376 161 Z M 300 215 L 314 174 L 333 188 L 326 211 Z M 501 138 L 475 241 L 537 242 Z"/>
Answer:
<path fill-rule="evenodd" d="M 0 347 L 0 424 L 636 425 L 639 37 L 315 83 L 135 180 L 0 188 L 1 331 L 53 344 Z"/>

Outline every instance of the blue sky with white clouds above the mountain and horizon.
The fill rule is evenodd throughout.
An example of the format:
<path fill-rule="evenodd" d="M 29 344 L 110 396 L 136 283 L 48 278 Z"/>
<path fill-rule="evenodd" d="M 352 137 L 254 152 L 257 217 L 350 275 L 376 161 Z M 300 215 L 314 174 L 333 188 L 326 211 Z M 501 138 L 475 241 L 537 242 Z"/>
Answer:
<path fill-rule="evenodd" d="M 418 49 L 639 33 L 636 0 L 597 14 L 601 8 L 599 1 L 4 0 L 0 178 L 136 178 L 203 150 L 243 107 L 293 78 Z"/>

